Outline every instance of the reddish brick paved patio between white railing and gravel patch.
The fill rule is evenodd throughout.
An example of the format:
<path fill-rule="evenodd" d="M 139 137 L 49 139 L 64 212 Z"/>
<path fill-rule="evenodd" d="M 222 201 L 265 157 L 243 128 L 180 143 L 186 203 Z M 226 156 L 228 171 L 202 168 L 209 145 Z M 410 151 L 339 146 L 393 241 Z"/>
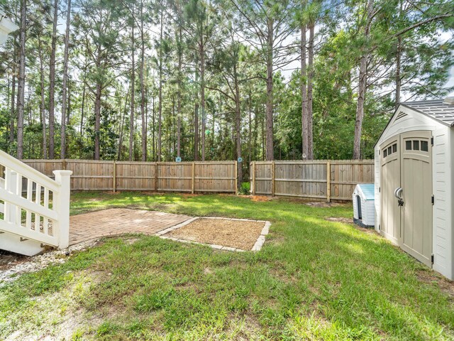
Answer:
<path fill-rule="evenodd" d="M 70 245 L 123 233 L 155 234 L 191 217 L 171 213 L 111 208 L 70 217 Z"/>

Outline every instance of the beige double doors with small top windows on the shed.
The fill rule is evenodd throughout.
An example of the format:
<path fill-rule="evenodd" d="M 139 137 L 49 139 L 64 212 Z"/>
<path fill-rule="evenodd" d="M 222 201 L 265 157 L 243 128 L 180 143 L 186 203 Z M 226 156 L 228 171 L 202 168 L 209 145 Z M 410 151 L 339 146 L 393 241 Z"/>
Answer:
<path fill-rule="evenodd" d="M 380 146 L 382 165 L 380 231 L 404 251 L 431 266 L 431 131 L 409 131 Z M 402 197 L 399 206 L 395 190 Z"/>

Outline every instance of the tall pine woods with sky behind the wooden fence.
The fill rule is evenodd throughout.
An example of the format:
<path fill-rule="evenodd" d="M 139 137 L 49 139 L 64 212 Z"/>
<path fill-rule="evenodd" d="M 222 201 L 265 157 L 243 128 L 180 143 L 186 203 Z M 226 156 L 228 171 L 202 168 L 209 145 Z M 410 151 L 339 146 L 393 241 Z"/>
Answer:
<path fill-rule="evenodd" d="M 0 7 L 21 26 L 0 51 L 0 148 L 19 158 L 372 158 L 398 102 L 453 91 L 452 1 Z"/>

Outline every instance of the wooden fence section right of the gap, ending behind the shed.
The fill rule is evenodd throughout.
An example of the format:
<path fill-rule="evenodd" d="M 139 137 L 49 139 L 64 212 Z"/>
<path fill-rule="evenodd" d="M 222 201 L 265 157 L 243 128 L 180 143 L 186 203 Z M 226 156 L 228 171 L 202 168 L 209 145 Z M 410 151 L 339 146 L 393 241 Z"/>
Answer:
<path fill-rule="evenodd" d="M 352 200 L 355 185 L 373 182 L 373 160 L 250 163 L 250 191 L 253 195 Z"/>

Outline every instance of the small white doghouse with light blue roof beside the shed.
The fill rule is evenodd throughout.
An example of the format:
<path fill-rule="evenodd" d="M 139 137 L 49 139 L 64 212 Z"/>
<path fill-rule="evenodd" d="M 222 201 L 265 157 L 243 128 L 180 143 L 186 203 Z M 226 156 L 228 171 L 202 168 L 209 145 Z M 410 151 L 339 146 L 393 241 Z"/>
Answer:
<path fill-rule="evenodd" d="M 353 222 L 362 227 L 375 226 L 375 185 L 359 183 L 353 191 Z"/>

